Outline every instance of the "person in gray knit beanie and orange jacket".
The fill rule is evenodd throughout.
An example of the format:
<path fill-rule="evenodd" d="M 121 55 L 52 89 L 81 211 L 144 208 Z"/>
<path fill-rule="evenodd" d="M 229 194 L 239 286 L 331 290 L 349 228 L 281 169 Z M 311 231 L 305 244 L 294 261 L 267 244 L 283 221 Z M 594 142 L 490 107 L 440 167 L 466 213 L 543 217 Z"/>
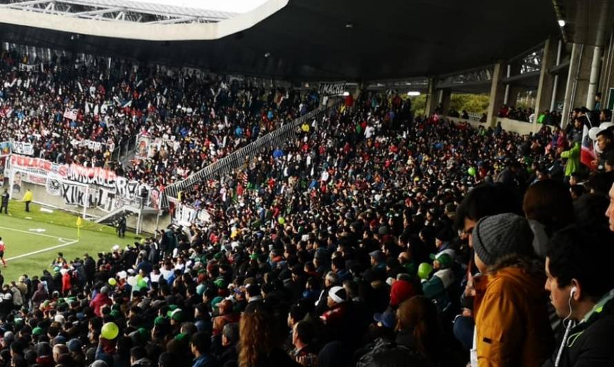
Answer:
<path fill-rule="evenodd" d="M 541 366 L 552 350 L 542 267 L 533 232 L 513 213 L 488 216 L 472 233 L 475 358 L 479 366 Z M 472 352 L 473 353 L 473 352 Z"/>

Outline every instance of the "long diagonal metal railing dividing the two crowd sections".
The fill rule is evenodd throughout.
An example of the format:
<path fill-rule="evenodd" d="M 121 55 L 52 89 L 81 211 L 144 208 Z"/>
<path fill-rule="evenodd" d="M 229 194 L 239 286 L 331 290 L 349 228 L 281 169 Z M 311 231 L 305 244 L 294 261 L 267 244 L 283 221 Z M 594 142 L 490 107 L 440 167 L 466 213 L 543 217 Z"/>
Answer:
<path fill-rule="evenodd" d="M 174 198 L 175 200 L 179 196 L 179 191 L 184 191 L 190 187 L 196 185 L 199 182 L 212 178 L 213 176 L 222 176 L 227 174 L 232 169 L 241 167 L 246 160 L 254 158 L 258 153 L 273 147 L 281 147 L 289 140 L 293 140 L 297 136 L 297 130 L 305 122 L 310 122 L 314 118 L 319 118 L 326 114 L 330 109 L 339 106 L 340 101 L 333 103 L 330 106 L 321 106 L 313 111 L 296 118 L 292 122 L 275 129 L 261 138 L 258 138 L 255 142 L 252 142 L 241 149 L 232 152 L 228 156 L 213 162 L 204 169 L 191 174 L 185 180 L 175 182 L 172 185 L 167 186 L 164 189 L 163 205 L 168 205 L 168 199 Z"/>

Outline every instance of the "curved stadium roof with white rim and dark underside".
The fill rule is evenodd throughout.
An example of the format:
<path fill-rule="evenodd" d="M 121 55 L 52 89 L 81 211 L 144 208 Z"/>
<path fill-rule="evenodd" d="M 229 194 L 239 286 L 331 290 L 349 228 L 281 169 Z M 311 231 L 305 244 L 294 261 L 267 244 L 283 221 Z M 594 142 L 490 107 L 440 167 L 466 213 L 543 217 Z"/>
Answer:
<path fill-rule="evenodd" d="M 244 14 L 28 2 L 50 9 L 0 9 L 2 41 L 296 81 L 445 74 L 509 59 L 559 32 L 551 0 L 269 0 Z M 50 3 L 86 14 L 52 12 Z"/>

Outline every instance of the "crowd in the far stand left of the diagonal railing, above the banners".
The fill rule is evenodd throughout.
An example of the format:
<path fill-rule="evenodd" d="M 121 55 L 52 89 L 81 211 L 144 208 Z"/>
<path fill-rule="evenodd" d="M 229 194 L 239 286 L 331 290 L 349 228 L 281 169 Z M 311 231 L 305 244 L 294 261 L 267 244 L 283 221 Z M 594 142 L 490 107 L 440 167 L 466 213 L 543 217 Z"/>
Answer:
<path fill-rule="evenodd" d="M 87 60 L 3 51 L 0 140 L 32 143 L 34 156 L 53 162 L 111 168 L 165 187 L 305 114 L 319 98 L 159 65 Z M 159 149 L 125 166 L 113 160 L 137 134 L 161 139 Z"/>

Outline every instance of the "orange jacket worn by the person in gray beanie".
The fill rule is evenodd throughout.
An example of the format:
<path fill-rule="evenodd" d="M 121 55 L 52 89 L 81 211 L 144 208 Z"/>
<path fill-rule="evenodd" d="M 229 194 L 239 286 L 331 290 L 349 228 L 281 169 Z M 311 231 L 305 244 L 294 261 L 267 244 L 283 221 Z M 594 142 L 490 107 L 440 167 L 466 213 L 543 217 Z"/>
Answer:
<path fill-rule="evenodd" d="M 542 366 L 553 348 L 545 277 L 506 266 L 475 277 L 477 362 L 486 366 Z M 536 269 L 537 270 L 537 269 Z"/>

